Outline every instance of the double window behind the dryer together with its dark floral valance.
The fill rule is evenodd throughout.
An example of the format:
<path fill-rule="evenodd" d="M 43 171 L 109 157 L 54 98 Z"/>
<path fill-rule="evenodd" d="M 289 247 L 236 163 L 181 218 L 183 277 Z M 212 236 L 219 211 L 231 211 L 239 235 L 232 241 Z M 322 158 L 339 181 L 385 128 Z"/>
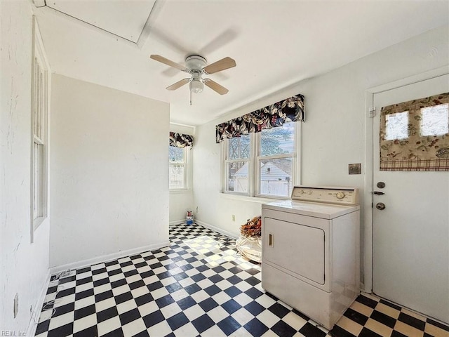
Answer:
<path fill-rule="evenodd" d="M 295 95 L 216 126 L 223 142 L 222 192 L 250 197 L 290 197 L 297 183 L 299 127 L 304 97 Z"/>

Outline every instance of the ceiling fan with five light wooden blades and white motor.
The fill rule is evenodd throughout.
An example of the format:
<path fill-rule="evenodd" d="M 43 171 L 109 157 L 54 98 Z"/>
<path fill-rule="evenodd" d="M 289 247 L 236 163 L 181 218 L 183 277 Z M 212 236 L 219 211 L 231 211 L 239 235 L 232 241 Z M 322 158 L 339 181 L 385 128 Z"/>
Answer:
<path fill-rule="evenodd" d="M 229 90 L 227 90 L 227 88 L 220 86 L 220 84 L 217 84 L 217 82 L 212 79 L 203 79 L 203 75 L 215 74 L 215 72 L 221 72 L 222 70 L 227 70 L 236 66 L 236 61 L 229 57 L 222 58 L 217 62 L 206 65 L 207 61 L 206 58 L 203 58 L 203 56 L 189 55 L 185 59 L 185 66 L 168 60 L 168 58 L 164 58 L 161 55 L 150 55 L 150 58 L 192 75 L 192 77 L 188 79 L 181 79 L 166 88 L 167 90 L 176 90 L 177 88 L 180 88 L 188 83 L 191 93 L 190 105 L 192 105 L 192 93 L 201 93 L 201 91 L 203 91 L 204 84 L 206 84 L 206 86 L 211 88 L 213 91 L 220 93 L 220 95 L 225 95 L 228 93 Z"/>

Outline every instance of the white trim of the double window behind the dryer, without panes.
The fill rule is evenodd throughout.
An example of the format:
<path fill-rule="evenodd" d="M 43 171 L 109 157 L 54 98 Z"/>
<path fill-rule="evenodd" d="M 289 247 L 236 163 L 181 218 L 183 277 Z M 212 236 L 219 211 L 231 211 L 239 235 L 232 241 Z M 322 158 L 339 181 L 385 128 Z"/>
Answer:
<path fill-rule="evenodd" d="M 241 200 L 255 200 L 255 201 L 261 201 L 261 202 L 269 202 L 273 200 L 285 200 L 290 199 L 290 196 L 288 197 L 279 197 L 274 195 L 268 195 L 268 194 L 260 194 L 259 193 L 259 184 L 257 183 L 259 181 L 260 176 L 260 170 L 257 169 L 257 163 L 262 159 L 269 159 L 269 158 L 292 158 L 292 185 L 300 185 L 301 183 L 301 128 L 302 124 L 299 122 L 295 122 L 295 131 L 294 131 L 294 143 L 295 143 L 295 152 L 293 154 L 279 154 L 274 156 L 256 156 L 256 154 L 260 153 L 260 137 L 261 133 L 249 133 L 250 136 L 250 157 L 248 159 L 248 177 L 251 174 L 251 177 L 248 178 L 248 193 L 244 192 L 234 192 L 234 191 L 228 191 L 227 190 L 227 163 L 232 161 L 245 161 L 244 159 L 234 159 L 234 160 L 227 160 L 227 150 L 228 150 L 228 142 L 229 140 L 225 138 L 222 142 L 222 151 L 220 156 L 220 185 L 221 185 L 221 193 L 225 197 L 234 198 L 234 199 L 241 199 Z"/>

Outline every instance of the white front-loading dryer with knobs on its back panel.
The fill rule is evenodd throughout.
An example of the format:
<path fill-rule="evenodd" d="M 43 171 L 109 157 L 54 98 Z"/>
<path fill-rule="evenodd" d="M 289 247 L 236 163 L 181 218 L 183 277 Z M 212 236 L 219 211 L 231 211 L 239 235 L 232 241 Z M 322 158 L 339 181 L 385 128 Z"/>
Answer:
<path fill-rule="evenodd" d="M 262 288 L 332 329 L 360 293 L 360 206 L 349 187 L 293 187 L 262 205 Z"/>

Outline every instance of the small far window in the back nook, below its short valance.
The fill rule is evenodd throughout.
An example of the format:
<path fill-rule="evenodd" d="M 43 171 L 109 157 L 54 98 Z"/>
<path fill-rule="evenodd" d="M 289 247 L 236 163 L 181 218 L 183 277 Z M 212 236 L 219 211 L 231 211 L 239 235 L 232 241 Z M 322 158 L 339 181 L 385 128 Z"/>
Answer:
<path fill-rule="evenodd" d="M 187 147 L 168 147 L 168 176 L 170 190 L 185 189 L 187 184 Z"/>

